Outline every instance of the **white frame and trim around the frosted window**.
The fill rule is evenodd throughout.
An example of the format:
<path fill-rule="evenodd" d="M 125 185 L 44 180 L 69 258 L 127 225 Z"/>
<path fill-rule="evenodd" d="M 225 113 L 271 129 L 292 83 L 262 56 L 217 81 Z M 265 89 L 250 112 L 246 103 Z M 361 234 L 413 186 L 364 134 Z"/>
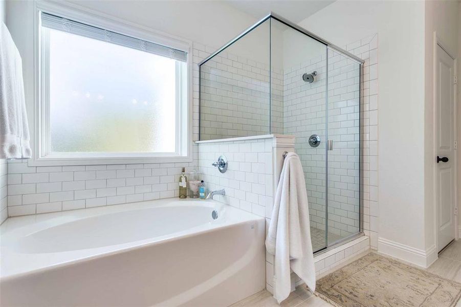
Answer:
<path fill-rule="evenodd" d="M 159 43 L 177 50 L 187 52 L 186 69 L 177 63 L 177 99 L 176 99 L 176 149 L 177 152 L 59 152 L 51 153 L 48 49 L 42 43 L 40 13 L 45 12 L 79 21 L 90 26 L 104 28 L 123 35 Z M 82 9 L 79 6 L 61 5 L 50 2 L 35 2 L 35 40 L 34 40 L 34 125 L 31 131 L 33 158 L 30 166 L 54 165 L 95 165 L 95 164 L 137 164 L 168 163 L 192 161 L 192 56 L 191 41 L 160 33 L 153 29 L 115 19 L 105 14 Z M 45 65 L 43 65 L 45 63 Z M 183 82 L 187 78 L 187 82 Z M 183 84 L 183 89 L 179 85 Z M 45 86 L 43 86 L 45 85 Z M 180 94 L 180 95 L 178 95 Z M 182 97 L 185 94 L 187 97 Z M 184 99 L 184 103 L 182 103 Z"/>

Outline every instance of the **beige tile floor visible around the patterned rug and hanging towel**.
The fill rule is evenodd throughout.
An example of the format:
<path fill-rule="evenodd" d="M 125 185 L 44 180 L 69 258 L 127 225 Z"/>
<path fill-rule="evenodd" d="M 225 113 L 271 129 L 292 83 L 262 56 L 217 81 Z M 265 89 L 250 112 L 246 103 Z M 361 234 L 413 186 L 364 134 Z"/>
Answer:
<path fill-rule="evenodd" d="M 427 269 L 427 271 L 461 282 L 461 240 L 454 242 L 445 251 L 443 251 L 438 259 Z M 232 307 L 275 307 L 278 306 L 277 301 L 268 291 L 263 290 L 244 300 L 241 300 L 232 305 Z M 311 294 L 304 287 L 298 287 L 290 296 L 284 300 L 280 306 L 283 307 L 332 307 L 321 298 Z M 461 301 L 456 304 L 456 307 L 461 307 Z"/>

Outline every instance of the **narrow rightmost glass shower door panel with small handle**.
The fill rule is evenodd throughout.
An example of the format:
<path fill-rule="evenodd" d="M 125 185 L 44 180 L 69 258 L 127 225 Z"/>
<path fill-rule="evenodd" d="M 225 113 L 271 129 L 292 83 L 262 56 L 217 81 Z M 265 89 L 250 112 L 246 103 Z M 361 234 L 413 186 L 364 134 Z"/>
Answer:
<path fill-rule="evenodd" d="M 360 64 L 328 48 L 327 246 L 360 232 Z"/>

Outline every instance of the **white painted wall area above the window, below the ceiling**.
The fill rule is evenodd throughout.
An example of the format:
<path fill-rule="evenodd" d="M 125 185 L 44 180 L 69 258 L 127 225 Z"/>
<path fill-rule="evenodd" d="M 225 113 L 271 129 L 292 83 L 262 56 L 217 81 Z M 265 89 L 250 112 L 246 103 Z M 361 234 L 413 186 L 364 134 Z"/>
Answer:
<path fill-rule="evenodd" d="M 256 18 L 218 1 L 69 1 L 158 31 L 221 47 Z"/>

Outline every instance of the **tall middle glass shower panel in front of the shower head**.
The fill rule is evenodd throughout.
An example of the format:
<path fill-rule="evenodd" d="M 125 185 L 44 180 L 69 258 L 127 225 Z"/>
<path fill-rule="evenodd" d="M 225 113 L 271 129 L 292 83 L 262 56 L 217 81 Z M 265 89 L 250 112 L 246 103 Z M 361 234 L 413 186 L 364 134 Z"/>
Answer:
<path fill-rule="evenodd" d="M 315 252 L 327 247 L 327 48 L 281 21 L 270 20 L 271 133 L 295 136 Z"/>

